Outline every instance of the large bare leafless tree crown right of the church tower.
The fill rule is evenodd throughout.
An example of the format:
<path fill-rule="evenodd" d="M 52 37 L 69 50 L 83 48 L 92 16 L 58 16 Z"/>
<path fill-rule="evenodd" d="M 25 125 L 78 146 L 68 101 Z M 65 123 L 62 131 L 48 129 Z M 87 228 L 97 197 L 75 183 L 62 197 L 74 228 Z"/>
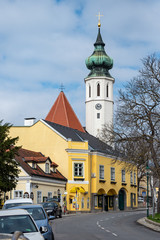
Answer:
<path fill-rule="evenodd" d="M 103 131 L 126 161 L 141 171 L 149 165 L 160 182 L 160 59 L 153 54 L 142 64 L 139 75 L 119 91 L 114 128 Z"/>

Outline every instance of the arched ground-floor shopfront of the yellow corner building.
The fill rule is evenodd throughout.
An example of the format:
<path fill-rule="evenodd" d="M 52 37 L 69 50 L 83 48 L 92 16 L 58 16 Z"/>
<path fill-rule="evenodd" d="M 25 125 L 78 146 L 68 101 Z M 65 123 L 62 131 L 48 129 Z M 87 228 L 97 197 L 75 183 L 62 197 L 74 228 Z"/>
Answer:
<path fill-rule="evenodd" d="M 128 192 L 124 187 L 89 194 L 83 187 L 72 188 L 68 195 L 67 210 L 69 212 L 98 212 L 133 209 L 137 207 L 137 193 Z"/>

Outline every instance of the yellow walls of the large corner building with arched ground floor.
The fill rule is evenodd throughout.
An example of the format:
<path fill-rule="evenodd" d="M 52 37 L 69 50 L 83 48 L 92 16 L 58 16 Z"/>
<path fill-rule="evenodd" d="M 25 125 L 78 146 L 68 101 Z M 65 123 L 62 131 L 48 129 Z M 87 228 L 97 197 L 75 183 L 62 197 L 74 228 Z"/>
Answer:
<path fill-rule="evenodd" d="M 58 164 L 58 170 L 68 179 L 66 200 L 68 211 L 99 211 L 137 207 L 137 170 L 123 171 L 122 162 L 113 164 L 113 156 L 89 149 L 88 141 L 72 141 L 51 129 L 43 121 L 30 127 L 12 127 L 12 137 L 19 136 L 17 145 L 39 151 Z M 119 160 L 120 161 L 120 160 Z M 114 181 L 111 180 L 114 168 Z M 103 176 L 100 176 L 101 174 Z M 102 178 L 101 178 L 102 177 Z M 41 183 L 47 190 L 47 186 Z M 36 190 L 35 190 L 36 191 Z M 64 195 L 65 196 L 65 195 Z"/>

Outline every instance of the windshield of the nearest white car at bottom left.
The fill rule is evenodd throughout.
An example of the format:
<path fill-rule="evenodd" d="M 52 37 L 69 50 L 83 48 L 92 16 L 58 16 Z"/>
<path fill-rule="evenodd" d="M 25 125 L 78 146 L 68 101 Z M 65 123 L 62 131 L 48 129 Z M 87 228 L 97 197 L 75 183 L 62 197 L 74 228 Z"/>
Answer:
<path fill-rule="evenodd" d="M 29 215 L 0 216 L 0 233 L 38 232 Z"/>

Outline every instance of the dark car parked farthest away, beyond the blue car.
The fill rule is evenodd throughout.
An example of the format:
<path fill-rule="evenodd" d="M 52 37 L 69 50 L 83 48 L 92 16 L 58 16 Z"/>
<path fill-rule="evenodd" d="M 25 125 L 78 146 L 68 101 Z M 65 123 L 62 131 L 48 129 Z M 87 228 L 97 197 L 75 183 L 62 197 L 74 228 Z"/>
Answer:
<path fill-rule="evenodd" d="M 57 216 L 60 218 L 62 217 L 62 208 L 58 202 L 43 202 L 41 204 L 47 212 L 48 216 L 55 216 L 55 218 L 57 218 Z"/>

